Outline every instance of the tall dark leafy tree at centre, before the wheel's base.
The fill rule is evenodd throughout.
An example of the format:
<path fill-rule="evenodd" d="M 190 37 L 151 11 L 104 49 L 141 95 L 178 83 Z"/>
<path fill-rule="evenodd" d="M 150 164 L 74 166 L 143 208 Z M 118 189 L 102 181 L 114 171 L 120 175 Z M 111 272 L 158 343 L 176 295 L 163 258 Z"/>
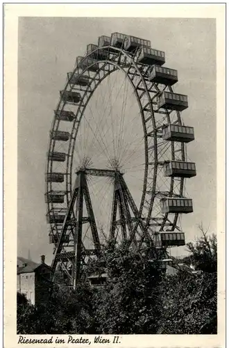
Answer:
<path fill-rule="evenodd" d="M 156 333 L 163 253 L 152 246 L 130 249 L 125 243 L 105 248 L 102 258 L 87 269 L 108 274 L 107 283 L 93 296 L 94 333 Z"/>

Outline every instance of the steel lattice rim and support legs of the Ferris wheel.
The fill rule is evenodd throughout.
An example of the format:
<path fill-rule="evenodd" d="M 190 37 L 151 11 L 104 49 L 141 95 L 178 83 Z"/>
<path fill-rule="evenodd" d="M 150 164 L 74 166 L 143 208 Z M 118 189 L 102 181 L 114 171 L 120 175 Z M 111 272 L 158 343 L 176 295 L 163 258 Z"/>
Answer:
<path fill-rule="evenodd" d="M 184 197 L 185 176 L 164 177 L 162 171 L 165 161 L 187 161 L 185 142 L 166 141 L 163 137 L 164 127 L 183 126 L 183 122 L 180 111 L 158 107 L 158 97 L 166 91 L 173 93 L 173 90 L 169 84 L 149 79 L 152 64 L 139 60 L 141 49 L 138 45 L 128 51 L 124 44 L 119 47 L 114 44 L 94 47 L 80 63 L 76 61 L 73 72 L 67 74 L 65 89 L 60 93 L 60 101 L 54 111 L 46 166 L 47 219 L 50 224 L 49 236 L 55 244 L 52 267 L 55 270 L 60 263 L 69 283 L 74 286 L 80 278 L 83 264 L 93 255 L 98 256 L 101 248 L 101 231 L 96 226 L 90 180 L 87 177 L 107 177 L 112 184 L 110 227 L 106 231 L 108 238 L 114 239 L 115 231 L 119 228 L 121 239 L 129 239 L 130 243 L 143 242 L 146 236 L 160 242 L 161 232 L 180 231 L 179 212 L 162 213 L 160 200 L 164 197 Z M 142 122 L 142 137 L 139 139 L 143 144 L 141 159 L 144 168 L 138 204 L 125 181 L 128 171 L 121 170 L 117 157 L 110 159 L 110 168 L 98 168 L 89 157 L 84 157 L 77 169 L 74 162 L 76 142 L 79 134 L 83 134 L 83 131 L 80 133 L 80 125 L 84 122 L 92 97 L 103 81 L 108 79 L 109 84 L 112 74 L 118 72 L 133 91 L 138 107 L 135 114 Z M 102 104 L 106 104 L 110 111 L 104 111 L 108 119 L 114 108 L 109 98 Z M 121 113 L 126 114 L 124 111 Z M 120 124 L 124 122 L 121 117 L 124 119 L 124 116 L 120 116 Z M 92 129 L 92 132 L 99 134 L 99 130 Z M 83 136 L 80 143 L 82 139 Z M 65 143 L 64 150 L 60 150 L 63 148 L 60 143 Z M 91 231 L 91 248 L 83 242 L 82 230 L 85 225 Z"/>

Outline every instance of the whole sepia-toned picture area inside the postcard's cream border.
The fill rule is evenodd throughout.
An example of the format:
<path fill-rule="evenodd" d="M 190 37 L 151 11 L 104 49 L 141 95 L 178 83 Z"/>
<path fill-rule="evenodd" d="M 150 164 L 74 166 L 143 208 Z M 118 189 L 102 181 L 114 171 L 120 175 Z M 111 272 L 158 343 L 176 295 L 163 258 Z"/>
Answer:
<path fill-rule="evenodd" d="M 217 19 L 75 13 L 18 17 L 17 343 L 217 335 Z"/>

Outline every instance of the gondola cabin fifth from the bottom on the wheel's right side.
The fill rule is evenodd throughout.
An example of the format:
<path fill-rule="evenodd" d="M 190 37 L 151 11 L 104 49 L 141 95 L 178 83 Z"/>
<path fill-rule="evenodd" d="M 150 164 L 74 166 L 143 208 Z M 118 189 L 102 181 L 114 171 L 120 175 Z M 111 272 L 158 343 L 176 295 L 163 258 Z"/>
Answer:
<path fill-rule="evenodd" d="M 169 110 L 183 111 L 188 108 L 187 95 L 162 92 L 158 96 L 158 109 L 164 108 Z"/>

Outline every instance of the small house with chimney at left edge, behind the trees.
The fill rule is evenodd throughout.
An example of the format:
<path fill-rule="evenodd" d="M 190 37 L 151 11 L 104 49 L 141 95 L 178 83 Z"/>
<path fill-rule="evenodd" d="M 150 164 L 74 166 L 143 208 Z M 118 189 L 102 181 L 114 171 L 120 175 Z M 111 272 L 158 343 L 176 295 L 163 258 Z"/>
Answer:
<path fill-rule="evenodd" d="M 36 263 L 26 258 L 17 258 L 17 292 L 25 294 L 28 301 L 35 305 L 49 299 L 52 286 L 52 269 L 44 262 Z"/>

